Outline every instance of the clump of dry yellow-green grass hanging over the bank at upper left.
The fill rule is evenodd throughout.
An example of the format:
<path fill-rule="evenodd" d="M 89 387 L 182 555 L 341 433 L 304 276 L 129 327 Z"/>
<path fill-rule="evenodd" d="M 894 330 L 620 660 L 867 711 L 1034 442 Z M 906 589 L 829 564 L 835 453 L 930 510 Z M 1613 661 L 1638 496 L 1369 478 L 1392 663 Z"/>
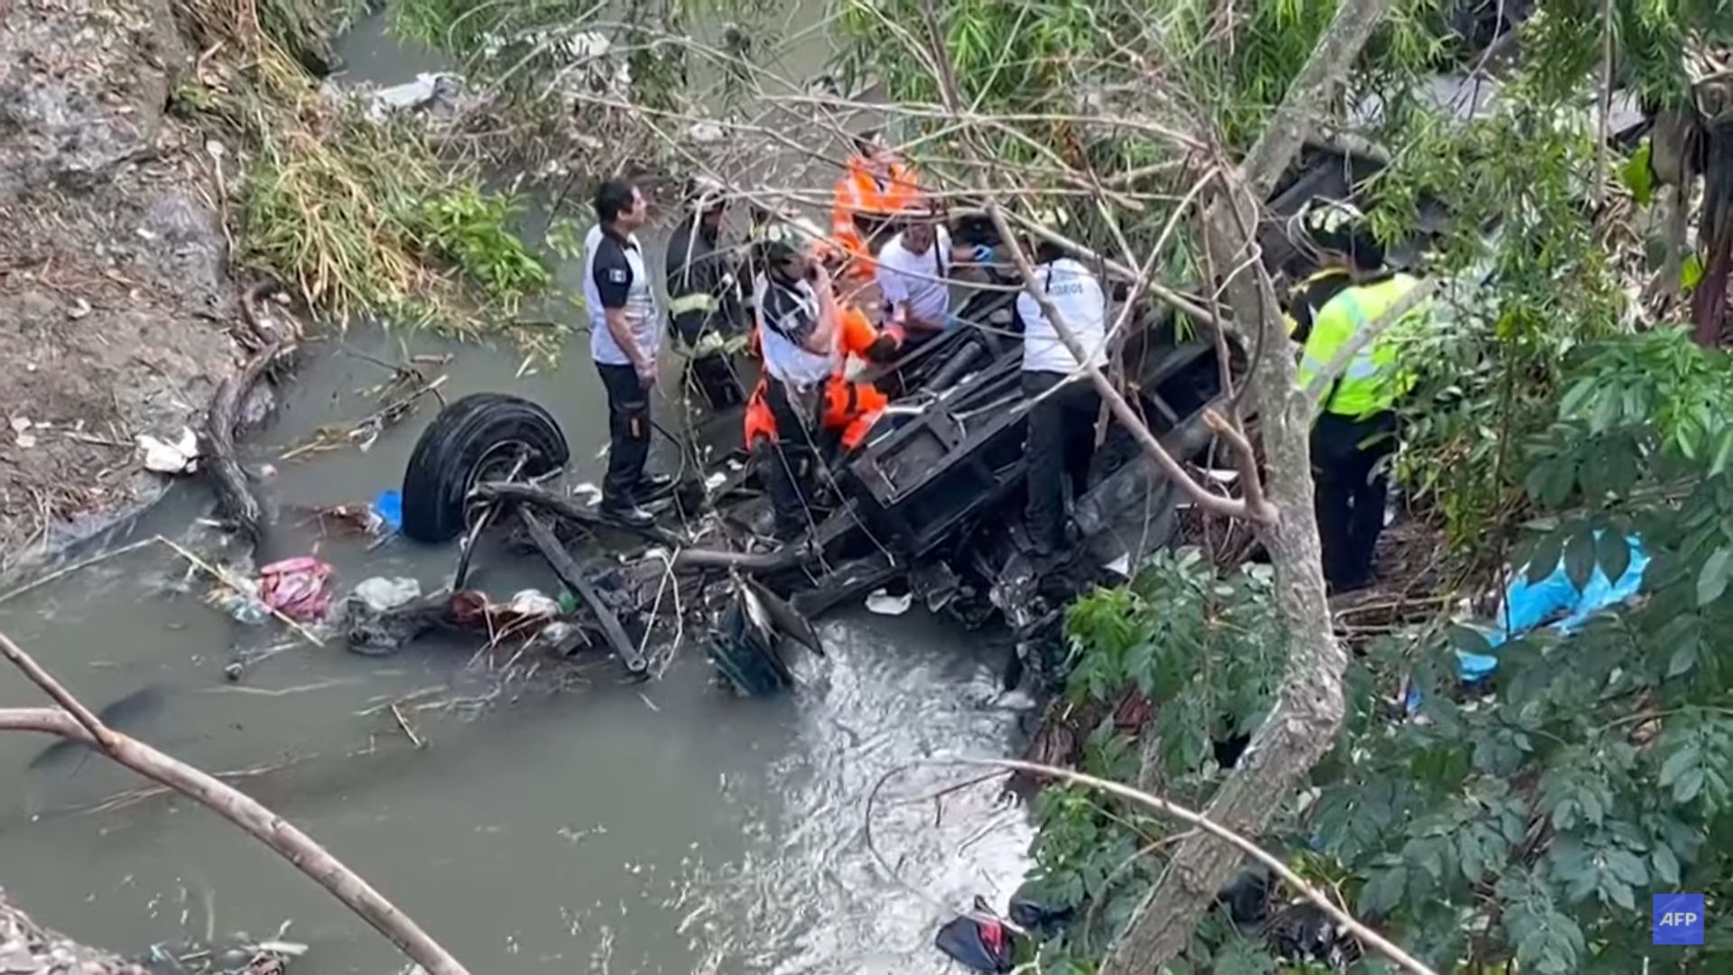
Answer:
<path fill-rule="evenodd" d="M 484 191 L 473 161 L 442 151 L 419 120 L 374 120 L 317 90 L 302 61 L 305 38 L 324 36 L 324 10 L 276 0 L 260 5 L 256 33 L 210 0 L 184 12 L 201 42 L 243 52 L 175 94 L 244 153 L 243 264 L 296 283 L 340 321 L 385 316 L 468 337 L 551 285 L 515 229 L 520 203 Z"/>

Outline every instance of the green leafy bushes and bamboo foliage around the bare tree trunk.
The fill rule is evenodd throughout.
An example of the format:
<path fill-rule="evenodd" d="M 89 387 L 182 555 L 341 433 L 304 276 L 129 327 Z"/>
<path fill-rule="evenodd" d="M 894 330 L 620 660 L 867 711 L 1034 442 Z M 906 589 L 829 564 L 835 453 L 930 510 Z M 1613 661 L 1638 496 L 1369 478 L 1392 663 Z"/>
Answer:
<path fill-rule="evenodd" d="M 1662 954 L 1648 893 L 1733 897 L 1733 656 L 1716 638 L 1733 612 L 1733 363 L 1691 342 L 1676 293 L 1645 293 L 1667 271 L 1653 257 L 1660 153 L 1603 149 L 1596 102 L 1610 38 L 1617 82 L 1648 108 L 1690 109 L 1681 50 L 1730 40 L 1724 3 L 1617 0 L 1608 33 L 1603 3 L 1541 0 L 1473 120 L 1426 85 L 1478 64 L 1452 33 L 1456 7 L 1399 0 L 1343 99 L 1376 97 L 1381 113 L 1348 125 L 1348 106 L 1331 106 L 1388 151 L 1364 186 L 1379 236 L 1430 224 L 1419 264 L 1452 283 L 1435 328 L 1404 349 L 1423 382 L 1395 458 L 1451 562 L 1442 592 L 1407 595 L 1452 614 L 1355 642 L 1348 722 L 1300 795 L 1270 796 L 1282 814 L 1262 841 L 1437 972 L 1717 972 L 1733 925 Z M 1069 236 L 1185 286 L 1204 271 L 1192 187 L 1265 130 L 1334 10 L 861 0 L 842 23 L 853 73 L 884 83 L 906 139 L 934 141 L 917 158 L 934 182 L 1059 201 Z M 948 83 L 977 125 L 938 108 Z M 1690 288 L 1705 264 L 1667 272 Z M 1489 687 L 1459 685 L 1456 652 L 1487 644 L 1457 604 L 1490 618 L 1511 566 L 1619 576 L 1627 533 L 1652 559 L 1634 602 L 1570 635 L 1513 638 Z M 1163 555 L 1073 607 L 1066 694 L 1100 715 L 1087 770 L 1192 808 L 1218 795 L 1213 746 L 1270 713 L 1296 638 L 1258 573 Z M 1139 704 L 1152 718 L 1135 730 Z M 1165 883 L 1180 831 L 1078 788 L 1047 789 L 1038 815 L 1031 890 L 1078 913 L 1029 970 L 1095 972 Z M 1390 970 L 1277 959 L 1253 935 L 1211 911 L 1168 970 Z"/>

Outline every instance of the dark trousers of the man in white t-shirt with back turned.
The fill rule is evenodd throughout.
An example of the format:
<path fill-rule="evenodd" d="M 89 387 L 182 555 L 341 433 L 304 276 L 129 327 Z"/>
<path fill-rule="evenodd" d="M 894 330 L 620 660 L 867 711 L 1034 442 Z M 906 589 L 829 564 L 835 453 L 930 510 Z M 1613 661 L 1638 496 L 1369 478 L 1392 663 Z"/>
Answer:
<path fill-rule="evenodd" d="M 1095 455 L 1095 416 L 1100 394 L 1083 378 L 1066 382 L 1064 373 L 1022 373 L 1022 396 L 1036 396 L 1059 387 L 1029 411 L 1028 486 L 1029 536 L 1042 546 L 1066 543 L 1066 479 L 1071 496 L 1088 488 L 1088 463 Z"/>

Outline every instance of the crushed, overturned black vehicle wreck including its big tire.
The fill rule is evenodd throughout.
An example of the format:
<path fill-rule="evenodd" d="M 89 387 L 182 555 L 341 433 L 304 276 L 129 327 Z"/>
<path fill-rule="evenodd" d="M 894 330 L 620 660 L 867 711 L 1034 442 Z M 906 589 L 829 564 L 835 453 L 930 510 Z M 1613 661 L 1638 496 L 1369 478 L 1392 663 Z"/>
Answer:
<path fill-rule="evenodd" d="M 1284 220 L 1312 198 L 1350 198 L 1378 165 L 1310 146 L 1272 194 L 1270 220 L 1260 227 L 1265 265 L 1293 274 L 1300 257 Z M 953 229 L 969 232 L 979 226 Z M 1071 500 L 1076 534 L 1055 555 L 1033 553 L 1021 527 L 1029 402 L 1014 302 L 1016 290 L 976 291 L 958 316 L 964 324 L 866 371 L 891 404 L 865 442 L 828 451 L 818 510 L 799 541 L 766 538 L 769 498 L 740 444 L 738 408 L 702 423 L 721 442 L 705 470 L 685 472 L 669 501 L 683 527 L 633 529 L 558 486 L 568 460 L 558 423 L 499 394 L 459 399 L 423 432 L 404 481 L 404 533 L 426 543 L 463 536 L 458 590 L 480 531 L 529 531 L 529 546 L 542 550 L 574 593 L 574 576 L 589 579 L 584 604 L 594 635 L 629 670 L 641 670 L 643 659 L 626 647 L 643 644 L 657 607 L 678 604 L 707 614 L 711 656 L 740 690 L 769 690 L 790 680 L 778 651 L 787 637 L 821 651 L 808 619 L 906 585 L 927 609 L 967 625 L 1002 619 L 1019 645 L 1014 670 L 1035 664 L 1038 677 L 1057 678 L 1064 605 L 1126 578 L 1168 545 L 1185 501 L 1123 429 L 1097 423 L 1088 488 Z M 1109 302 L 1109 321 L 1121 311 Z M 1147 300 L 1126 319 L 1116 342 L 1121 389 L 1173 456 L 1196 461 L 1211 442 L 1204 411 L 1222 396 L 1223 373 L 1244 368 L 1243 350 L 1236 340 L 1218 342 L 1208 323 Z M 1229 350 L 1227 370 L 1218 349 Z M 742 373 L 750 370 L 742 363 Z M 513 507 L 518 517 L 503 517 Z M 669 579 L 679 599 L 667 597 Z M 437 618 L 438 597 L 428 599 Z"/>

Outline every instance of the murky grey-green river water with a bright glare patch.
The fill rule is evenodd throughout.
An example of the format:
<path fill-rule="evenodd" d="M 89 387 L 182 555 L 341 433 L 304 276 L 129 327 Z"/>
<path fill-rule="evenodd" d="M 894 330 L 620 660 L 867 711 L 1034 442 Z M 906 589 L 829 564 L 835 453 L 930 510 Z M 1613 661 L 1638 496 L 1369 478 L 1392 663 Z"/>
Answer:
<path fill-rule="evenodd" d="M 428 64 L 352 36 L 352 66 L 404 80 Z M 648 248 L 655 253 L 659 248 Z M 561 267 L 575 285 L 575 269 Z M 371 411 L 357 394 L 385 371 L 359 357 L 402 349 L 452 352 L 447 397 L 501 390 L 546 404 L 572 444 L 572 479 L 600 481 L 605 404 L 584 338 L 556 370 L 520 375 L 511 349 L 459 347 L 425 335 L 352 328 L 321 342 L 251 435 L 272 460 L 322 423 Z M 345 448 L 277 461 L 267 491 L 281 508 L 263 559 L 315 552 L 343 588 L 367 576 L 442 585 L 451 548 L 321 538 L 302 507 L 367 501 L 395 486 L 432 408 L 366 453 Z M 163 534 L 213 543 L 196 484 L 99 538 L 81 555 Z M 529 559 L 478 559 L 473 585 L 510 595 L 553 590 Z M 1003 904 L 1024 869 L 1024 814 L 981 786 L 882 808 L 863 833 L 879 777 L 910 760 L 1003 755 L 1019 711 L 998 699 L 1003 649 L 990 635 L 912 611 L 844 609 L 821 625 L 827 661 L 801 663 L 782 699 L 716 689 L 690 640 L 650 684 L 619 682 L 598 661 L 558 694 L 485 706 L 406 708 L 416 749 L 378 711 L 426 692 L 447 704 L 494 680 L 470 666 L 473 644 L 421 642 L 392 658 L 341 645 L 291 645 L 224 678 L 237 651 L 293 638 L 203 602 L 203 579 L 144 548 L 0 604 L 0 630 L 31 649 L 92 706 L 137 694 L 127 729 L 208 770 L 239 772 L 246 791 L 296 821 L 366 874 L 478 975 L 546 972 L 944 972 L 931 949 L 946 911 L 976 893 Z M 12 671 L 0 706 L 40 704 Z M 0 881 L 40 918 L 83 940 L 135 952 L 248 932 L 310 946 L 296 972 L 406 968 L 383 939 L 256 841 L 194 803 L 139 795 L 142 782 L 80 755 L 31 763 L 47 741 L 0 736 Z M 955 781 L 915 770 L 896 795 Z"/>

